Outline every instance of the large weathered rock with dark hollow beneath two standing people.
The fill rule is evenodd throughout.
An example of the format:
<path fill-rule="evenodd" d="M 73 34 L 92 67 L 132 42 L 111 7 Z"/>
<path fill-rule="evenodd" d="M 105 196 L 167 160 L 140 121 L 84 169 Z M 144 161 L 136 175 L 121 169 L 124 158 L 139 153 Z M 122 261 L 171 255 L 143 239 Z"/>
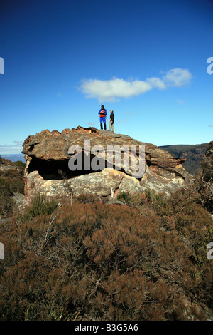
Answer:
<path fill-rule="evenodd" d="M 73 145 L 76 150 L 70 149 Z M 131 145 L 134 146 L 133 152 Z M 143 148 L 143 145 L 144 172 L 136 177 L 132 165 L 135 163 L 139 166 L 139 148 Z M 119 148 L 121 161 L 116 160 L 116 150 L 119 151 Z M 187 172 L 182 168 L 182 158 L 175 158 L 151 143 L 133 140 L 129 135 L 96 128 L 77 127 L 65 129 L 62 133 L 44 130 L 26 138 L 22 153 L 26 154 L 27 202 L 31 202 L 38 192 L 57 199 L 85 193 L 96 195 L 102 201 L 115 198 L 122 191 L 143 192 L 147 188 L 170 195 L 184 185 L 187 177 Z M 129 169 L 124 164 L 126 157 L 130 160 Z M 72 166 L 76 163 L 77 170 L 70 170 L 70 160 Z M 79 162 L 82 162 L 82 170 L 79 170 Z M 98 170 L 94 169 L 94 165 Z"/>

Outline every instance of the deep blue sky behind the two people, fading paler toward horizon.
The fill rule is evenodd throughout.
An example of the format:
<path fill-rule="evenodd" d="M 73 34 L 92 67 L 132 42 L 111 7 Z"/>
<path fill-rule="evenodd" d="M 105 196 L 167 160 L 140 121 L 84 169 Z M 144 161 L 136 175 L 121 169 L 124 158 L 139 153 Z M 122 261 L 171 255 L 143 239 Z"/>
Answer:
<path fill-rule="evenodd" d="M 116 133 L 209 143 L 212 33 L 210 0 L 1 0 L 0 154 L 41 130 L 99 129 L 102 104 Z"/>

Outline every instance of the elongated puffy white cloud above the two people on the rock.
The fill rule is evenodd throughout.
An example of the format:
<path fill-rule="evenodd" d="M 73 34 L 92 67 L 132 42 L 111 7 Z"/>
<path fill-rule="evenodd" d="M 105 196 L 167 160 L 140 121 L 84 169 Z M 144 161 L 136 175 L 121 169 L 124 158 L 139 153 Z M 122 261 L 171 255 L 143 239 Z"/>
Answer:
<path fill-rule="evenodd" d="M 87 98 L 97 98 L 99 102 L 117 101 L 120 98 L 139 96 L 153 88 L 164 90 L 168 86 L 182 86 L 189 83 L 192 78 L 190 71 L 182 68 L 173 68 L 165 73 L 163 78 L 152 77 L 146 81 L 125 81 L 121 78 L 110 80 L 85 79 L 80 90 Z"/>

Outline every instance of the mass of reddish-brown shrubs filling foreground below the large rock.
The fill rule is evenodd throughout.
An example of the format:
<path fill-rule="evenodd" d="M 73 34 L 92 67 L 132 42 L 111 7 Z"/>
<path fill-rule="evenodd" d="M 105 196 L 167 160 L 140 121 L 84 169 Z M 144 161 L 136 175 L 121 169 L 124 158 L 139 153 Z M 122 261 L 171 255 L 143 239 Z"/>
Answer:
<path fill-rule="evenodd" d="M 176 220 L 99 202 L 48 214 L 41 199 L 31 220 L 0 225 L 1 319 L 173 320 L 182 317 L 177 299 L 212 303 L 212 263 L 196 258 L 211 232 L 200 205 Z"/>

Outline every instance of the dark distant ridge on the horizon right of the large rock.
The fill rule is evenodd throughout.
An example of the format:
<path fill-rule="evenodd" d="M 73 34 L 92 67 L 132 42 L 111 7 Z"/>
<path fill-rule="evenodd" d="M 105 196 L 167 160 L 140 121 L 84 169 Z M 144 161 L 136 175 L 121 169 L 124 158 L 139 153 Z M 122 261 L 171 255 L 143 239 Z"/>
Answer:
<path fill-rule="evenodd" d="M 200 162 L 206 153 L 207 146 L 209 143 L 202 144 L 178 144 L 178 145 L 163 145 L 158 148 L 168 151 L 176 158 L 185 158 L 185 162 L 182 163 L 183 168 L 191 175 L 195 175 L 197 170 L 200 169 Z"/>

